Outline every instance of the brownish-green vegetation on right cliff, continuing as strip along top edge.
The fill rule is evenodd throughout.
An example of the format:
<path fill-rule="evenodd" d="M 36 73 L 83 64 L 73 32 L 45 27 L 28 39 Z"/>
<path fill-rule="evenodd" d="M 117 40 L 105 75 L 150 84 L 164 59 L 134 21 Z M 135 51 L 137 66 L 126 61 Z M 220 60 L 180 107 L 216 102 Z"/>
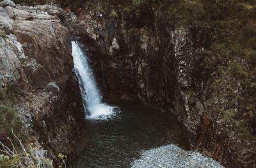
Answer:
<path fill-rule="evenodd" d="M 225 121 L 247 135 L 256 133 L 256 2 L 251 0 L 182 1 L 57 1 L 70 8 L 99 10 L 116 19 L 118 10 L 135 11 L 140 17 L 145 8 L 161 11 L 175 29 L 191 31 L 194 43 L 193 88 L 207 100 L 207 111 L 221 113 Z M 100 5 L 99 5 L 100 4 Z M 111 12 L 109 8 L 113 8 Z M 203 87 L 201 86 L 203 84 Z M 205 93 L 207 92 L 207 95 Z M 204 93 L 203 93 L 204 92 Z M 218 102 L 223 99 L 225 102 Z M 227 101 L 228 100 L 228 101 Z M 215 102 L 215 103 L 214 103 Z M 225 104 L 225 105 L 224 105 Z M 224 107 L 225 106 L 225 107 Z"/>

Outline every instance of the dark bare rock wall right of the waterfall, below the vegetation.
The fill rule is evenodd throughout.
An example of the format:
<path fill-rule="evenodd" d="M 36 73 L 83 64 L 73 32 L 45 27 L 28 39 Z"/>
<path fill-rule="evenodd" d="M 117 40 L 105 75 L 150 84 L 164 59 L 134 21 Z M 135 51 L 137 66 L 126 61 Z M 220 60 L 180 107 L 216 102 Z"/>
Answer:
<path fill-rule="evenodd" d="M 228 98 L 207 104 L 214 96 L 209 88 L 214 80 L 198 68 L 202 61 L 195 50 L 204 50 L 202 31 L 175 29 L 167 15 L 147 7 L 139 16 L 135 11 L 115 10 L 116 15 L 111 15 L 113 9 L 108 11 L 105 15 L 94 11 L 93 15 L 79 10 L 77 16 L 65 11 L 70 30 L 86 45 L 84 51 L 106 101 L 143 102 L 172 112 L 191 149 L 227 167 L 254 166 L 255 141 L 235 132 L 234 125 L 227 125 L 214 110 L 227 109 Z M 226 86 L 230 84 L 223 89 Z M 219 94 L 217 88 L 214 94 Z"/>

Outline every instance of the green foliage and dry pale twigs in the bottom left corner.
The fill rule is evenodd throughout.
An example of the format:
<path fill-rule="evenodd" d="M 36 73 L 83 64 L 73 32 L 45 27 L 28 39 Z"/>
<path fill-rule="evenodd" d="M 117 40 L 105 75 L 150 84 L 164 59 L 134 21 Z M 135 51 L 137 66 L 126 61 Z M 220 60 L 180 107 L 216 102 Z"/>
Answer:
<path fill-rule="evenodd" d="M 7 144 L 0 141 L 0 167 L 52 167 L 52 160 L 45 157 L 46 153 L 40 146 L 33 143 L 24 144 L 13 133 L 17 132 L 21 136 L 21 123 L 14 102 L 15 94 L 12 89 L 7 88 L 6 91 L 0 92 L 0 132 L 7 136 L 9 140 L 9 142 L 6 142 Z M 3 137 L 1 138 L 3 139 Z M 12 141 L 12 139 L 15 141 Z M 66 160 L 67 156 L 58 155 L 59 167 L 66 167 Z"/>

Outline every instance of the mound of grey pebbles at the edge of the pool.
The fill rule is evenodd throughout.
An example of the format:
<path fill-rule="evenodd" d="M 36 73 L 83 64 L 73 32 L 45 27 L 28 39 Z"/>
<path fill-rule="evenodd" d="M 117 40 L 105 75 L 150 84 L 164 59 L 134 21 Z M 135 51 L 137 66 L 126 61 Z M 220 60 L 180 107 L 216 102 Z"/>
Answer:
<path fill-rule="evenodd" d="M 131 163 L 132 168 L 157 168 L 157 167 L 211 167 L 224 168 L 212 158 L 203 157 L 195 151 L 185 151 L 173 144 L 159 148 L 142 151 L 141 157 Z"/>

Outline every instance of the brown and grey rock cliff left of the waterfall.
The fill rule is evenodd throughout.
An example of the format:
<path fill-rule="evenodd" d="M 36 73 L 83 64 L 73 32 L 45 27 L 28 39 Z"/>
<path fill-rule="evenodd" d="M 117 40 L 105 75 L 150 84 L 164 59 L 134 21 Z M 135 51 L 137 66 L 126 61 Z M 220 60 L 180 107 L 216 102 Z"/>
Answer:
<path fill-rule="evenodd" d="M 39 7 L 0 8 L 0 85 L 20 89 L 15 106 L 26 133 L 53 156 L 72 151 L 84 112 L 70 33 L 57 17 L 36 13 Z"/>

